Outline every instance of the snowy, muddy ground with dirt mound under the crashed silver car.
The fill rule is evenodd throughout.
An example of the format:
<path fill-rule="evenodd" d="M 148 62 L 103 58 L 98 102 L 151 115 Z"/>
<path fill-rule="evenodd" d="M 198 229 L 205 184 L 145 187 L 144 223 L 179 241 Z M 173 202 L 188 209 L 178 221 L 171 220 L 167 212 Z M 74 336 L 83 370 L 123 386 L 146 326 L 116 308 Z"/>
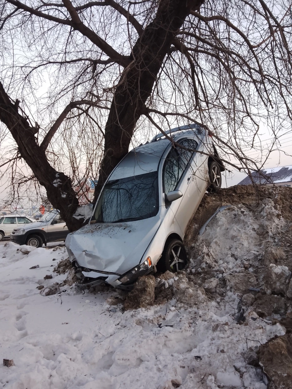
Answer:
<path fill-rule="evenodd" d="M 69 286 L 53 271 L 64 247 L 0 245 L 0 357 L 14 362 L 0 366 L 0 388 L 266 389 L 271 377 L 250 353 L 288 331 L 291 192 L 236 190 L 205 196 L 188 233 L 190 267 L 156 274 L 146 308 L 129 309 L 108 287 Z M 215 203 L 232 206 L 197 237 Z"/>

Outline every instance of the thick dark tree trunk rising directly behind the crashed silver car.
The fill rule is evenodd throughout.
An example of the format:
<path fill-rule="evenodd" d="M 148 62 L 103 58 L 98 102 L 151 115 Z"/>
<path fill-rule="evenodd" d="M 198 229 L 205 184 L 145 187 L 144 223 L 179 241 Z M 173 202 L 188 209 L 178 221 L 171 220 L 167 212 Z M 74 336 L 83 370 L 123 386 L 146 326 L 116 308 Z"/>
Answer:
<path fill-rule="evenodd" d="M 176 32 L 190 11 L 199 9 L 202 0 L 161 0 L 157 14 L 133 47 L 132 62 L 123 71 L 115 89 L 105 128 L 104 157 L 95 201 L 113 168 L 127 154 L 135 124 L 150 96 L 165 55 Z"/>

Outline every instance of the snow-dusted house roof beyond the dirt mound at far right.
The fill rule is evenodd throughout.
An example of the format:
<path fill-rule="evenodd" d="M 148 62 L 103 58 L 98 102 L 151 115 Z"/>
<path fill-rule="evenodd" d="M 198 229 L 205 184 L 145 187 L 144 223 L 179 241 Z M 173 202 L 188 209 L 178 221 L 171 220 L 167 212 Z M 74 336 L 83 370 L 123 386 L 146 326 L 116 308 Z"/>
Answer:
<path fill-rule="evenodd" d="M 292 165 L 278 166 L 276 168 L 262 169 L 260 172 L 252 172 L 253 182 L 256 184 L 271 184 L 292 181 Z M 252 180 L 248 175 L 238 185 L 250 185 Z"/>

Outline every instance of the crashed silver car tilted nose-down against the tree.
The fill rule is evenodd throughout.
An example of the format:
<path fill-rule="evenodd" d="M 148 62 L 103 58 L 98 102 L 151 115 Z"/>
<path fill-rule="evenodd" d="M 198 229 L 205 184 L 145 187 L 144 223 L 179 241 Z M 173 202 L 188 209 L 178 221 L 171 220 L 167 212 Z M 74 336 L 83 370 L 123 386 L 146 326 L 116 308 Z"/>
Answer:
<path fill-rule="evenodd" d="M 141 275 L 187 265 L 187 225 L 206 189 L 221 187 L 225 169 L 211 135 L 200 126 L 167 134 L 174 142 L 159 134 L 120 161 L 89 224 L 67 235 L 70 261 L 84 283 L 130 289 Z"/>

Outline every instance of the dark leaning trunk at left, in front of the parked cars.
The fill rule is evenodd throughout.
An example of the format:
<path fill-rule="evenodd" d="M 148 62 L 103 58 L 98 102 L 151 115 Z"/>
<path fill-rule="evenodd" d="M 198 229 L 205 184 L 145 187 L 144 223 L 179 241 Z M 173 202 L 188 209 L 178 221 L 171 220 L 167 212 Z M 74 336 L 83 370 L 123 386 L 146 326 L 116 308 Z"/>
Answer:
<path fill-rule="evenodd" d="M 47 198 L 60 211 L 69 231 L 81 227 L 81 221 L 72 215 L 79 202 L 72 188 L 71 179 L 57 172 L 48 162 L 45 149 L 37 144 L 35 128 L 18 112 L 18 104 L 13 104 L 0 82 L 0 120 L 9 128 L 21 158 L 32 169 L 35 178 L 47 191 Z"/>

